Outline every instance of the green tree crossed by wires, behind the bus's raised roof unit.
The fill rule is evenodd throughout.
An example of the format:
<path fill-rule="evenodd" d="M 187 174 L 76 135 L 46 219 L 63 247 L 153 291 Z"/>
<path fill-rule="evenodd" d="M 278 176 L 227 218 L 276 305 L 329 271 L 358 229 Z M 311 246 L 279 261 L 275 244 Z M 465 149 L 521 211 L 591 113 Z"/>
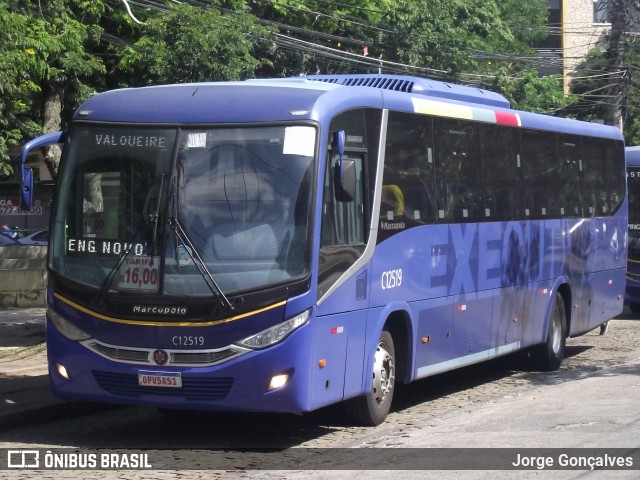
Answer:
<path fill-rule="evenodd" d="M 330 9 L 326 5 L 318 0 L 251 5 L 257 16 L 280 25 L 275 65 L 265 74 L 380 69 L 460 79 L 462 72 L 495 72 L 498 59 L 508 62 L 532 52 L 529 43 L 544 35 L 547 15 L 543 0 L 344 0 Z"/>

